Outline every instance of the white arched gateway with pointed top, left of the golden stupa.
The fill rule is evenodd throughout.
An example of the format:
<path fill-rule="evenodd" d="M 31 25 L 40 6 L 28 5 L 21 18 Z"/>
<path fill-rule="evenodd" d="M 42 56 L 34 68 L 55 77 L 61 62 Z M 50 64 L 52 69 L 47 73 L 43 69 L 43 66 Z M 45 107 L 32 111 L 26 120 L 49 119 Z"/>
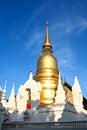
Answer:
<path fill-rule="evenodd" d="M 17 111 L 12 114 L 13 116 L 11 121 L 24 121 L 24 117 L 26 116 L 24 113 L 27 109 L 27 100 L 31 100 L 31 109 L 29 111 L 27 110 L 27 112 L 29 112 L 29 116 L 31 116 L 36 111 L 40 101 L 41 89 L 41 84 L 33 80 L 32 73 L 30 73 L 29 79 L 25 82 L 24 85 L 19 87 L 17 95 Z"/>

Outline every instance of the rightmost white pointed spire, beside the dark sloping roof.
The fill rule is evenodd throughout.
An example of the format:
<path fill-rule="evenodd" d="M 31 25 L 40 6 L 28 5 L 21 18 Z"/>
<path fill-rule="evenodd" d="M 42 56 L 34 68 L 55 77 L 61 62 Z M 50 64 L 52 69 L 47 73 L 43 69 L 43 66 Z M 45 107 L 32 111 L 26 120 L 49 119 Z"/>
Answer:
<path fill-rule="evenodd" d="M 77 76 L 75 76 L 75 81 L 72 86 L 72 94 L 73 94 L 73 105 L 77 110 L 81 110 L 83 108 L 83 96 Z"/>

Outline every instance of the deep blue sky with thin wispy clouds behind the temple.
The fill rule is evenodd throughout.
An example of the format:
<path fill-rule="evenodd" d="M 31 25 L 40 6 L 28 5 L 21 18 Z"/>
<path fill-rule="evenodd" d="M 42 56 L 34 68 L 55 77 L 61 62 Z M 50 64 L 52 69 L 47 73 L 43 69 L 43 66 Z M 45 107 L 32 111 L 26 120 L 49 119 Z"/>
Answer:
<path fill-rule="evenodd" d="M 87 98 L 87 0 L 0 0 L 0 84 L 15 93 L 36 71 L 49 22 L 50 41 L 62 78 L 78 76 Z"/>

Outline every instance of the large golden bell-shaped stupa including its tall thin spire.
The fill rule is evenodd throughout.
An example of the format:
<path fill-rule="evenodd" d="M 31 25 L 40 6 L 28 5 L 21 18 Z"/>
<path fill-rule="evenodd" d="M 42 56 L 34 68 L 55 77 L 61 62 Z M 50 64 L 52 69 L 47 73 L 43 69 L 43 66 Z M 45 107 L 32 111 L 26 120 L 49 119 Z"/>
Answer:
<path fill-rule="evenodd" d="M 34 76 L 36 81 L 42 85 L 40 104 L 52 106 L 55 102 L 56 89 L 58 86 L 58 65 L 56 58 L 52 55 L 52 45 L 48 35 L 48 22 L 46 23 L 45 42 L 42 47 L 42 55 L 37 62 L 37 71 Z"/>

